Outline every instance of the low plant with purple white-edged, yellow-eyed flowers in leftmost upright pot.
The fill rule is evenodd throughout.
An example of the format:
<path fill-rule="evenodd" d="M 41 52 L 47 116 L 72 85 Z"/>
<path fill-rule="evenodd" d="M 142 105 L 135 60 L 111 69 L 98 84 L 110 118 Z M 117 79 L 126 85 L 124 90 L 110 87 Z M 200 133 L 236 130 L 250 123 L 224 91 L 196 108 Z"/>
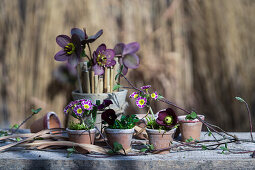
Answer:
<path fill-rule="evenodd" d="M 64 113 L 70 114 L 79 120 L 79 123 L 71 122 L 69 129 L 71 130 L 89 130 L 95 127 L 96 116 L 98 110 L 104 110 L 110 104 L 111 100 L 104 100 L 102 104 L 93 104 L 91 100 L 80 99 L 70 102 L 65 108 Z"/>

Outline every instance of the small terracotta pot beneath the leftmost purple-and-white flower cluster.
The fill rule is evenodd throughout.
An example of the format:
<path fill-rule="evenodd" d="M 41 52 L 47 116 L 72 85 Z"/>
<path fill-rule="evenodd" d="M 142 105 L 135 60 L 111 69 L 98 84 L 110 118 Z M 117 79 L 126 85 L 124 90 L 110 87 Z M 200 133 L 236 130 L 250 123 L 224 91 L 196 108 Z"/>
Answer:
<path fill-rule="evenodd" d="M 90 130 L 71 130 L 66 129 L 69 140 L 80 144 L 94 144 L 96 129 Z"/>

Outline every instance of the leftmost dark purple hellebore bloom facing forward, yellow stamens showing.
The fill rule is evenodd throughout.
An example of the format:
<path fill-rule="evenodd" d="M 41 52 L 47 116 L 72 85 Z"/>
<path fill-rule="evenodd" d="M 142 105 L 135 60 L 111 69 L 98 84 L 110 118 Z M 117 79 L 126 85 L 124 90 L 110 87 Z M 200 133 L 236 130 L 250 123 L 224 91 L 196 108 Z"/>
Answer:
<path fill-rule="evenodd" d="M 55 60 L 57 61 L 66 61 L 68 60 L 68 63 L 75 67 L 79 60 L 81 55 L 81 41 L 77 34 L 73 34 L 70 38 L 67 35 L 59 35 L 56 38 L 57 44 L 62 47 L 63 49 L 60 50 L 55 55 Z"/>

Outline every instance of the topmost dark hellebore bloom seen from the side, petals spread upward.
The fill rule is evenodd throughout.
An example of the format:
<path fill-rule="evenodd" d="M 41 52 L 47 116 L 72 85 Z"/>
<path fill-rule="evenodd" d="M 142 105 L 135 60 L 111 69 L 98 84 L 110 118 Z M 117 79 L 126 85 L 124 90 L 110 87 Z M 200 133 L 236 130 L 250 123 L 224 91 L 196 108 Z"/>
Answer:
<path fill-rule="evenodd" d="M 77 34 L 80 37 L 81 44 L 85 46 L 85 44 L 92 43 L 96 39 L 98 39 L 103 34 L 103 30 L 99 30 L 95 35 L 88 36 L 86 34 L 85 28 L 83 28 L 83 31 L 79 28 L 73 28 L 71 30 L 71 35 L 73 35 L 73 34 Z"/>

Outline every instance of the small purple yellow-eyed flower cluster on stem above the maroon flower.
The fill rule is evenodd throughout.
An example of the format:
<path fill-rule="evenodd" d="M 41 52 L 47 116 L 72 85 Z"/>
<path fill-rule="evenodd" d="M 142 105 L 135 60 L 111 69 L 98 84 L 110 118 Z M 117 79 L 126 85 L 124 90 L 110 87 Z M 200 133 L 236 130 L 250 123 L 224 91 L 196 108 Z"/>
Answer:
<path fill-rule="evenodd" d="M 153 92 L 153 93 L 149 93 L 149 88 L 151 87 L 151 85 L 147 85 L 147 86 L 142 86 L 141 89 L 145 90 L 144 91 L 140 91 L 140 93 L 138 92 L 133 92 L 129 97 L 130 98 L 134 98 L 136 99 L 136 105 L 139 108 L 144 108 L 146 105 L 148 105 L 148 102 L 150 102 L 151 99 L 157 100 L 158 99 L 158 93 L 157 92 Z"/>

